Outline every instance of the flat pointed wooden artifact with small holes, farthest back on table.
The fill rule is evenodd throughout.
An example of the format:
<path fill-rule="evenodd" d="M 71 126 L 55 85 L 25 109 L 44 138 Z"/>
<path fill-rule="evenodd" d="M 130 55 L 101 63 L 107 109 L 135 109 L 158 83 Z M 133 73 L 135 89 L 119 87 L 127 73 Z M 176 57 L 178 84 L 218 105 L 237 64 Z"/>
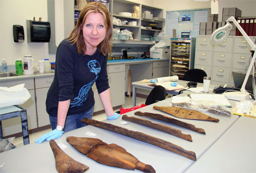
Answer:
<path fill-rule="evenodd" d="M 205 120 L 205 121 L 212 121 L 212 122 L 219 122 L 220 120 L 217 118 L 212 118 L 206 114 L 203 114 L 196 110 L 189 110 L 180 107 L 168 107 L 168 106 L 153 106 L 154 109 L 166 112 L 170 115 L 176 116 L 178 118 L 184 119 L 197 119 L 197 120 Z"/>

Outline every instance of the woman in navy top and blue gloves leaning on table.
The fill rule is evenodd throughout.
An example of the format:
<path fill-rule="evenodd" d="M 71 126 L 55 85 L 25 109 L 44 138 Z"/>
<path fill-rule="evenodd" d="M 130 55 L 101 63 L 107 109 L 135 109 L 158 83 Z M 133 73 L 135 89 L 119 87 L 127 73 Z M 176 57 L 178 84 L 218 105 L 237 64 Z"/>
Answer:
<path fill-rule="evenodd" d="M 81 119 L 92 119 L 94 82 L 106 117 L 116 119 L 120 116 L 114 113 L 111 105 L 106 72 L 112 33 L 110 14 L 103 4 L 92 2 L 82 9 L 76 27 L 59 44 L 56 53 L 54 80 L 46 100 L 53 131 L 35 142 L 59 138 L 64 128 L 68 132 L 86 126 Z"/>

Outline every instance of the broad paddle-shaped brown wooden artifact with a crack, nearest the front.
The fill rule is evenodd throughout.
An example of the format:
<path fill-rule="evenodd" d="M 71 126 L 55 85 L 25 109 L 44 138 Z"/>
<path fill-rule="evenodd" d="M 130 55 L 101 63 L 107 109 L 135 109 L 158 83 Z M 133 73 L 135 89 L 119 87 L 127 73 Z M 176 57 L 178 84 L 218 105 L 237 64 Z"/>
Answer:
<path fill-rule="evenodd" d="M 136 157 L 115 144 L 107 144 L 100 139 L 85 137 L 67 137 L 67 141 L 80 153 L 95 160 L 98 163 L 120 167 L 129 170 L 141 170 L 143 172 L 156 172 L 148 164 L 140 162 Z"/>

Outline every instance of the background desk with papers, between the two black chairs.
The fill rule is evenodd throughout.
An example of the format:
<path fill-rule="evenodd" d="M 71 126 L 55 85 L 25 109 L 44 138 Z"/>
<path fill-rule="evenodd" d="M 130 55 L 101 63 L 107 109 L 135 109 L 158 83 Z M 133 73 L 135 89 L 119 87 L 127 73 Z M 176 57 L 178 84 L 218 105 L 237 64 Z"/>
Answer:
<path fill-rule="evenodd" d="M 178 82 L 179 85 L 185 87 L 189 81 L 178 80 L 177 82 Z M 146 90 L 152 90 L 154 88 L 154 86 L 150 86 L 148 84 L 151 84 L 151 83 L 145 83 L 145 82 L 133 82 L 132 83 L 132 85 L 133 85 L 133 107 L 136 106 L 137 88 L 146 89 Z M 197 83 L 197 86 L 198 87 L 203 87 L 203 83 Z M 210 88 L 213 89 L 214 86 L 216 86 L 216 85 L 210 85 Z M 180 91 L 180 89 L 179 90 L 173 90 L 173 91 L 166 91 L 166 93 L 167 94 L 178 95 L 179 91 Z M 192 92 L 192 91 L 185 91 L 185 92 L 195 93 L 195 92 Z M 209 91 L 209 93 L 211 93 L 211 92 L 212 91 Z"/>

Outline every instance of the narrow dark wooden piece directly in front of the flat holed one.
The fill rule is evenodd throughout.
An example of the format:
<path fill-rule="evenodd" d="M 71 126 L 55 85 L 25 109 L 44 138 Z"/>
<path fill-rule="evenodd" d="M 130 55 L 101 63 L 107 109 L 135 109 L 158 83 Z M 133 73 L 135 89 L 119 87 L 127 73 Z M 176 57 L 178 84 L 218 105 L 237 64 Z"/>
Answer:
<path fill-rule="evenodd" d="M 180 127 L 186 128 L 186 129 L 193 130 L 197 133 L 205 134 L 204 129 L 196 128 L 194 125 L 191 125 L 190 123 L 183 122 L 183 121 L 180 121 L 178 119 L 174 119 L 174 118 L 171 118 L 171 117 L 168 117 L 168 116 L 165 116 L 165 115 L 156 114 L 156 113 L 149 113 L 149 112 L 142 113 L 140 111 L 135 112 L 134 114 L 139 115 L 139 116 L 146 116 L 146 117 L 150 117 L 150 118 L 154 118 L 154 119 L 159 119 L 159 120 L 169 122 L 169 123 L 172 123 L 174 125 L 177 125 L 177 126 L 180 126 Z"/>

